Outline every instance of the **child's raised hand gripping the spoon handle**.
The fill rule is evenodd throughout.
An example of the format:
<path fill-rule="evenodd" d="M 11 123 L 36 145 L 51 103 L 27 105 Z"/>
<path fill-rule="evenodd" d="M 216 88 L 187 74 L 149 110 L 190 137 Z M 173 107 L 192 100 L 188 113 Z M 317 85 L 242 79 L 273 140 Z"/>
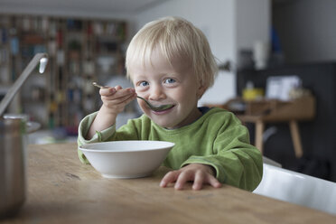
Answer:
<path fill-rule="evenodd" d="M 122 112 L 126 105 L 136 97 L 135 89 L 122 89 L 120 86 L 102 88 L 99 90 L 99 94 L 107 113 L 114 115 Z"/>

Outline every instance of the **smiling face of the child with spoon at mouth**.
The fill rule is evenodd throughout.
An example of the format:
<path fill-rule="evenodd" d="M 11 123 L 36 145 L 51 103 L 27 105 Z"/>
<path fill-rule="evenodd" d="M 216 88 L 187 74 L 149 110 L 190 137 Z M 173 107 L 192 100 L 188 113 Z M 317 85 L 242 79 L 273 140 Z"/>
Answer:
<path fill-rule="evenodd" d="M 148 117 L 168 129 L 189 125 L 201 117 L 197 101 L 203 92 L 196 75 L 185 61 L 176 59 L 172 65 L 160 51 L 154 51 L 152 64 L 149 61 L 145 66 L 134 63 L 129 68 L 138 96 L 153 105 L 173 104 L 172 108 L 155 112 L 146 107 L 144 100 L 137 99 Z"/>

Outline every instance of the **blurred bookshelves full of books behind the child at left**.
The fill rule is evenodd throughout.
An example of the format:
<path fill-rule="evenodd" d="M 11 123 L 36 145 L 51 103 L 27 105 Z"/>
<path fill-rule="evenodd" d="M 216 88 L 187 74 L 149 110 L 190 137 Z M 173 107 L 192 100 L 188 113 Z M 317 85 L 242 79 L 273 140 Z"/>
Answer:
<path fill-rule="evenodd" d="M 92 81 L 125 74 L 126 36 L 126 21 L 0 15 L 0 98 L 35 53 L 49 55 L 45 74 L 36 70 L 7 112 L 74 132 L 82 117 L 98 109 Z"/>

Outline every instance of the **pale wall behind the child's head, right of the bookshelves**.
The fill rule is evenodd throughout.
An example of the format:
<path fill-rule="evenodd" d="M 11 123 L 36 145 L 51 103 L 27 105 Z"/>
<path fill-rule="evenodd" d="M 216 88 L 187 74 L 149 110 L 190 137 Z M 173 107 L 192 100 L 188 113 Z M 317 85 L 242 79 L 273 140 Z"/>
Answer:
<path fill-rule="evenodd" d="M 251 48 L 256 40 L 267 40 L 269 5 L 269 0 L 170 0 L 136 14 L 135 30 L 159 17 L 182 16 L 207 36 L 219 62 L 237 61 L 238 47 Z M 200 104 L 221 104 L 235 96 L 235 73 L 220 71 Z"/>

